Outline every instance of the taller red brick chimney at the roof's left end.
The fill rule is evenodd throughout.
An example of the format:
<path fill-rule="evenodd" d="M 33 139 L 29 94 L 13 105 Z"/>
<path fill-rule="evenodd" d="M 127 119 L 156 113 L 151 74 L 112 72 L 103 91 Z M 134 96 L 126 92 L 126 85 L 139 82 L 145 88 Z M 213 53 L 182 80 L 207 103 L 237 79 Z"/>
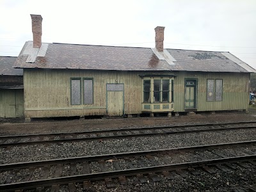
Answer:
<path fill-rule="evenodd" d="M 40 48 L 42 44 L 42 16 L 30 15 L 32 19 L 33 48 Z"/>

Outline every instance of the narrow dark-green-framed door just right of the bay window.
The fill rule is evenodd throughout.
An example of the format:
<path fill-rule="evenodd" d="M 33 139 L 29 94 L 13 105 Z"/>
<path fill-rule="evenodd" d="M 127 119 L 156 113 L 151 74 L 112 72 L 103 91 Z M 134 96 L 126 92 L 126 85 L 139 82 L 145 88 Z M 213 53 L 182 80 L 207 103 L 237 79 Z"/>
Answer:
<path fill-rule="evenodd" d="M 185 109 L 196 108 L 196 80 L 185 80 Z"/>

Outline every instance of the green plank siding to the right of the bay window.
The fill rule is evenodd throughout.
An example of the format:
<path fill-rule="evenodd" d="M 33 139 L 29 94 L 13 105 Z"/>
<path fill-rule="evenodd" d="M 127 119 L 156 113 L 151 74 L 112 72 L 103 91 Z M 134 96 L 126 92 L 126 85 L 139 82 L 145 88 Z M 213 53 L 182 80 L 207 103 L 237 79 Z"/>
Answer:
<path fill-rule="evenodd" d="M 174 79 L 174 111 L 184 110 L 184 81 L 197 79 L 197 111 L 248 109 L 249 73 L 177 72 Z M 207 102 L 207 79 L 223 79 L 222 101 Z"/>

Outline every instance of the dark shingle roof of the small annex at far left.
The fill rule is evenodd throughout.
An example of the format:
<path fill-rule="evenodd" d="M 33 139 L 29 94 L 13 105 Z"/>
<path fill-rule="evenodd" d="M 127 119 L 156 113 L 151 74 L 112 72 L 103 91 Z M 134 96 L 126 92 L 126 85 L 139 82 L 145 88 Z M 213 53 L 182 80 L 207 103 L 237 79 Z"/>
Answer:
<path fill-rule="evenodd" d="M 0 56 L 0 76 L 22 76 L 22 68 L 13 68 L 17 57 Z"/>

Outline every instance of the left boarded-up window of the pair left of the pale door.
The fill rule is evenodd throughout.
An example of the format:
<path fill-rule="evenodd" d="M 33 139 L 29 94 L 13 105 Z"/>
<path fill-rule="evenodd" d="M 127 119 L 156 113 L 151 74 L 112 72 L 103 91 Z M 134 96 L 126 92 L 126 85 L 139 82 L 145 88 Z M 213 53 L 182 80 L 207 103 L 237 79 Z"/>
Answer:
<path fill-rule="evenodd" d="M 71 104 L 81 104 L 81 80 L 71 79 Z"/>

